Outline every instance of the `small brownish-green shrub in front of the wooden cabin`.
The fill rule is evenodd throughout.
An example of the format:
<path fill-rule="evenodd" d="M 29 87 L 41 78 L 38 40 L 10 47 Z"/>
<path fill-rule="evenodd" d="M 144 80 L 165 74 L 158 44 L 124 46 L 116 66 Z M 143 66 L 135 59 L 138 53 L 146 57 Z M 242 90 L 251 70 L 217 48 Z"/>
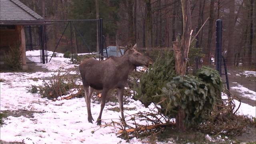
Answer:
<path fill-rule="evenodd" d="M 22 62 L 21 62 L 21 51 L 19 47 L 9 48 L 9 51 L 6 52 L 4 57 L 4 64 L 10 70 L 21 70 Z"/>

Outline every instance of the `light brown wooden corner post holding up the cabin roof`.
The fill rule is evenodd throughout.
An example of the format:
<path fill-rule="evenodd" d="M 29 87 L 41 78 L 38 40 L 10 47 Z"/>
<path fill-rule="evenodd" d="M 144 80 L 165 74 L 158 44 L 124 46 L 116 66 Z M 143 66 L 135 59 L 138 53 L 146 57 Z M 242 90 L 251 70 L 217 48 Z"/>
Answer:
<path fill-rule="evenodd" d="M 28 70 L 28 65 L 26 63 L 26 41 L 25 41 L 25 31 L 24 26 L 16 26 L 18 33 L 19 49 L 21 52 L 22 70 Z"/>

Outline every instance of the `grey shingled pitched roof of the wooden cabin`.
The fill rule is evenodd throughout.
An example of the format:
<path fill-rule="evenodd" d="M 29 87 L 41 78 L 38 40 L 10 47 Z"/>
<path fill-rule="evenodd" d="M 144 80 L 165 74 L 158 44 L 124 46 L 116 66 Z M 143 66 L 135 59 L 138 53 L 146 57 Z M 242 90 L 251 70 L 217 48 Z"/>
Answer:
<path fill-rule="evenodd" d="M 44 23 L 44 18 L 19 0 L 0 0 L 0 24 Z"/>

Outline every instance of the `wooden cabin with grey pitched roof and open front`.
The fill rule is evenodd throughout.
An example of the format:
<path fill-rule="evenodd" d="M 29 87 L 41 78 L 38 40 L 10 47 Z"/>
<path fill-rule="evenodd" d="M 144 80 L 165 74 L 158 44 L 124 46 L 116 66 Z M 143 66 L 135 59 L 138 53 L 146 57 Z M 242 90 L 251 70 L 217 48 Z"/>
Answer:
<path fill-rule="evenodd" d="M 19 0 L 0 0 L 0 63 L 10 48 L 19 48 L 22 70 L 27 70 L 24 26 L 43 24 L 44 18 Z"/>

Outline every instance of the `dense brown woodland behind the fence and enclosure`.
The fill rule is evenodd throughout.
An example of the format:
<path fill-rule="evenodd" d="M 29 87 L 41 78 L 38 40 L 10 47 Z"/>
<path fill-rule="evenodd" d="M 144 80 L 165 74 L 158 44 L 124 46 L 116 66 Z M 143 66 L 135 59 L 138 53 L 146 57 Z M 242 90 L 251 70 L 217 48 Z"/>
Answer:
<path fill-rule="evenodd" d="M 180 0 L 20 0 L 46 20 L 103 18 L 106 46 L 172 47 L 182 35 Z M 193 35 L 208 18 L 199 33 L 199 47 L 205 64 L 215 54 L 215 22 L 223 21 L 222 49 L 229 66 L 255 66 L 256 1 L 255 0 L 190 0 Z M 53 51 L 67 22 L 46 26 L 48 50 Z M 96 51 L 96 22 L 73 22 L 73 44 L 76 53 Z M 33 34 L 36 30 L 32 30 Z M 27 34 L 27 32 L 26 32 Z M 84 44 L 82 38 L 86 40 Z M 36 36 L 33 37 L 36 42 Z M 70 28 L 67 28 L 57 52 L 70 51 Z"/>

